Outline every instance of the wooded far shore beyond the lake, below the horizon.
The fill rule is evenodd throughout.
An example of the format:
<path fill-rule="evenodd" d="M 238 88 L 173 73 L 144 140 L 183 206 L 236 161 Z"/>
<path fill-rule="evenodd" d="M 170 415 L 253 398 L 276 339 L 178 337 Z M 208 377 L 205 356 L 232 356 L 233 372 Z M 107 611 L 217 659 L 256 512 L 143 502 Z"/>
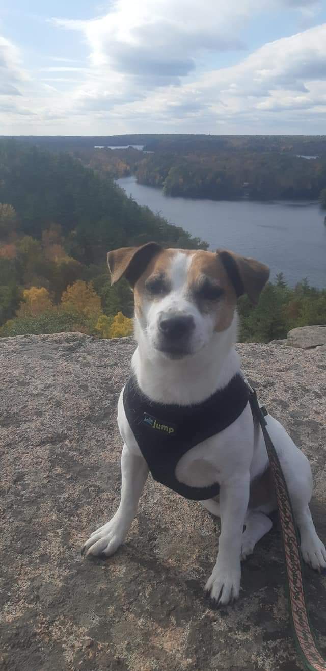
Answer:
<path fill-rule="evenodd" d="M 133 148 L 78 150 L 85 166 L 120 178 L 135 175 L 140 184 L 169 196 L 211 200 L 325 200 L 326 156 L 308 160 L 269 152 L 188 154 Z"/>

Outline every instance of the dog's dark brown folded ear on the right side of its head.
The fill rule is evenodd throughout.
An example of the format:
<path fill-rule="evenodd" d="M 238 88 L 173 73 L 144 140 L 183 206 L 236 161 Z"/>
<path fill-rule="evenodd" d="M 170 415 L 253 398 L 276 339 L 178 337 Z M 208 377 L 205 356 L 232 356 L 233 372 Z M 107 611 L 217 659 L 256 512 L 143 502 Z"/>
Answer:
<path fill-rule="evenodd" d="M 231 280 L 237 297 L 244 293 L 256 305 L 260 292 L 270 276 L 270 269 L 264 263 L 246 258 L 227 250 L 217 250 L 217 255 Z"/>

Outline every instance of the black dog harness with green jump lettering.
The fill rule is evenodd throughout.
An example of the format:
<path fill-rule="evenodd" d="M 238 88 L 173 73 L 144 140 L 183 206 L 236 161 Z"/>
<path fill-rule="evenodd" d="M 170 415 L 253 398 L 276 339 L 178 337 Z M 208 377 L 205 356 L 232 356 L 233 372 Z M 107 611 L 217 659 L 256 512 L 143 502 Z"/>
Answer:
<path fill-rule="evenodd" d="M 218 482 L 208 487 L 183 484 L 175 476 L 176 465 L 188 450 L 233 424 L 249 397 L 248 385 L 237 374 L 203 403 L 164 405 L 150 401 L 131 376 L 123 391 L 123 406 L 154 480 L 186 499 L 201 501 L 219 493 Z"/>

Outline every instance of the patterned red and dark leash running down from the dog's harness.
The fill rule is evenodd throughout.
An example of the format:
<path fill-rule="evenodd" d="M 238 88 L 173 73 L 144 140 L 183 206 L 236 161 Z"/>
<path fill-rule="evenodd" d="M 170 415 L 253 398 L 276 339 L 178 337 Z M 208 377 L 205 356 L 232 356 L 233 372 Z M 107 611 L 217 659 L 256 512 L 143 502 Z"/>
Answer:
<path fill-rule="evenodd" d="M 290 606 L 290 619 L 294 630 L 294 640 L 307 668 L 311 671 L 326 671 L 326 660 L 321 656 L 317 648 L 315 634 L 309 622 L 298 530 L 294 521 L 292 504 L 282 472 L 282 466 L 266 427 L 267 422 L 265 417 L 268 415 L 268 412 L 264 406 L 260 407 L 256 391 L 252 389 L 250 384 L 248 386 L 250 388 L 250 407 L 253 416 L 258 419 L 262 427 L 276 491 L 288 577 L 288 603 Z"/>

